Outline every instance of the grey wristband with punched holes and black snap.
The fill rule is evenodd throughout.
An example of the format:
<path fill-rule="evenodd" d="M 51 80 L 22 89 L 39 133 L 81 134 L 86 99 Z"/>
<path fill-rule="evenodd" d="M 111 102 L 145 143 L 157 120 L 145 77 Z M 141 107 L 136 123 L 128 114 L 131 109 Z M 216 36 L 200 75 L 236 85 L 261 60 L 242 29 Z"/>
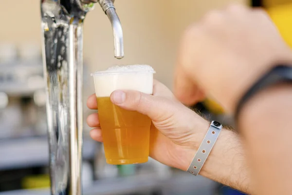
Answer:
<path fill-rule="evenodd" d="M 210 127 L 205 135 L 193 161 L 187 169 L 187 172 L 197 176 L 204 165 L 207 157 L 209 156 L 219 134 L 221 132 L 222 125 L 217 121 L 212 121 Z"/>

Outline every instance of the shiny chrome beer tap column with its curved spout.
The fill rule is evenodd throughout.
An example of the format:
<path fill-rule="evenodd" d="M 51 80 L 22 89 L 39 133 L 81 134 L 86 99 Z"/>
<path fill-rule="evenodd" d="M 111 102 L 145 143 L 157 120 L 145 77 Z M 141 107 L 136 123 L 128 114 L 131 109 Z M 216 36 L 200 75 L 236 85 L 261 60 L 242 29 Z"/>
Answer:
<path fill-rule="evenodd" d="M 114 56 L 124 57 L 114 0 L 40 0 L 52 195 L 81 195 L 83 21 L 99 3 L 113 29 Z"/>

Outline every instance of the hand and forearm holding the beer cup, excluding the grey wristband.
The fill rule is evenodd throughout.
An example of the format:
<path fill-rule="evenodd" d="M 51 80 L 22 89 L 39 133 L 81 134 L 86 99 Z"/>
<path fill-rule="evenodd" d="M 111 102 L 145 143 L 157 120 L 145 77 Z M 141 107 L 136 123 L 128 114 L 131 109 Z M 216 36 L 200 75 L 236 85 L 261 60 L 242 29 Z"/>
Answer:
<path fill-rule="evenodd" d="M 113 92 L 110 99 L 115 105 L 151 118 L 149 156 L 166 165 L 187 170 L 208 130 L 208 121 L 178 102 L 170 90 L 156 80 L 153 96 L 125 90 Z M 88 98 L 87 106 L 98 108 L 95 94 Z M 94 128 L 91 137 L 102 142 L 98 114 L 90 115 L 87 123 Z M 200 174 L 238 190 L 251 192 L 248 168 L 236 133 L 222 129 Z"/>

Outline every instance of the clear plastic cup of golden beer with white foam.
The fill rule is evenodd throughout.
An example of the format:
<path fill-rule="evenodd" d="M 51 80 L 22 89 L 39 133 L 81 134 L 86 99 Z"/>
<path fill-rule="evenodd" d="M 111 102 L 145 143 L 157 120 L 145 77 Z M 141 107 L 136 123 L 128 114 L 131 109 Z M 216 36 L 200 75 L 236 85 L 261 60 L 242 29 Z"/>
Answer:
<path fill-rule="evenodd" d="M 148 65 L 127 65 L 113 66 L 91 74 L 107 163 L 134 164 L 148 161 L 150 118 L 112 104 L 110 94 L 115 90 L 152 94 L 154 73 Z"/>

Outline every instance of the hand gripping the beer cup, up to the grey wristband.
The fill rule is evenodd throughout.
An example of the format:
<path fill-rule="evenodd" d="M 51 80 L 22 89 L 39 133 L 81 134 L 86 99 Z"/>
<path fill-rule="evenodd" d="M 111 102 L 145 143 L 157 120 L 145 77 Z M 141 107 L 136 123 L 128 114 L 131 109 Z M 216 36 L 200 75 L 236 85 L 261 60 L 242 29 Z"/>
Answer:
<path fill-rule="evenodd" d="M 125 99 L 122 99 L 124 97 Z M 115 91 L 113 104 L 147 115 L 152 120 L 149 155 L 172 167 L 186 170 L 199 148 L 209 122 L 176 100 L 171 91 L 154 80 L 153 96 L 138 91 Z M 87 101 L 90 109 L 97 109 L 95 94 Z M 91 114 L 87 123 L 94 129 L 91 137 L 103 141 L 98 114 Z"/>

